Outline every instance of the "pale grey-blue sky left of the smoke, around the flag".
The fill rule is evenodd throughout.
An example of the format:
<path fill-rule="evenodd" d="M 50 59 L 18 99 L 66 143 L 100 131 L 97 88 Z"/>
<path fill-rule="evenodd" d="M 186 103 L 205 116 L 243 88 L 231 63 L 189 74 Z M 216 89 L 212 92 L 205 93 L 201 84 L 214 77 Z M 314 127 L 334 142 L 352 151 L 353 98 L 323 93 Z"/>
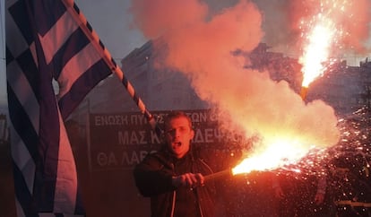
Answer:
<path fill-rule="evenodd" d="M 127 13 L 128 0 L 76 0 L 82 13 L 99 35 L 103 44 L 120 64 L 120 60 L 134 48 L 139 48 L 146 41 L 142 34 L 130 27 L 131 17 Z M 0 50 L 0 105 L 6 102 L 5 52 L 4 52 L 4 1 L 1 6 Z"/>

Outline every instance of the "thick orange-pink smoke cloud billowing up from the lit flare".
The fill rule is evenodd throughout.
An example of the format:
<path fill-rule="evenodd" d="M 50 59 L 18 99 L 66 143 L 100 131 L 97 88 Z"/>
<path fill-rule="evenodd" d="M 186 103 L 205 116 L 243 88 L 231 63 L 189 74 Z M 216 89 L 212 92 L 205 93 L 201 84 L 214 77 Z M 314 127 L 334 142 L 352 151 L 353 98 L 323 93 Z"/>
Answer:
<path fill-rule="evenodd" d="M 366 0 L 359 2 L 366 4 Z M 300 20 L 298 14 L 303 13 L 298 8 L 305 10 L 303 4 L 272 4 L 279 5 L 280 13 L 285 15 L 277 22 L 283 29 L 292 30 L 286 35 L 298 36 L 293 25 Z M 289 13 L 293 8 L 295 13 Z M 332 107 L 322 100 L 305 103 L 287 82 L 272 81 L 268 72 L 246 69 L 246 58 L 232 55 L 236 50 L 248 53 L 264 38 L 272 37 L 263 31 L 263 22 L 270 14 L 262 12 L 262 5 L 241 0 L 211 13 L 208 4 L 197 0 L 135 0 L 131 10 L 143 34 L 149 39 L 160 37 L 166 45 L 162 64 L 186 74 L 198 96 L 219 109 L 221 120 L 229 123 L 230 129 L 242 129 L 246 136 L 260 135 L 267 141 L 284 136 L 306 145 L 338 142 L 340 134 Z M 357 26 L 349 26 L 349 30 Z M 286 35 L 276 33 L 281 36 L 277 42 L 284 41 Z M 364 31 L 358 30 L 357 34 L 365 38 Z M 356 40 L 345 39 L 349 45 L 361 47 Z"/>

